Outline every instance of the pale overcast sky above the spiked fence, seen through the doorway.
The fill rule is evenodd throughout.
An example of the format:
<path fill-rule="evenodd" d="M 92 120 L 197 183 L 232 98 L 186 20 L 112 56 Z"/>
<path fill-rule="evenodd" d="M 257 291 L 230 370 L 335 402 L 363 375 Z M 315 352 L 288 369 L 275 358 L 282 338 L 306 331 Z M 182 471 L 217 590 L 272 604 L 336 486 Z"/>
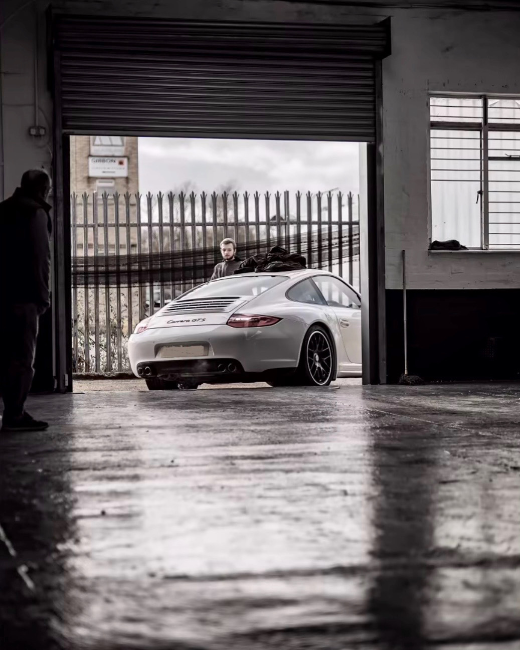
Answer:
<path fill-rule="evenodd" d="M 139 191 L 168 192 L 188 183 L 196 192 L 231 186 L 357 194 L 358 145 L 351 142 L 139 138 Z"/>

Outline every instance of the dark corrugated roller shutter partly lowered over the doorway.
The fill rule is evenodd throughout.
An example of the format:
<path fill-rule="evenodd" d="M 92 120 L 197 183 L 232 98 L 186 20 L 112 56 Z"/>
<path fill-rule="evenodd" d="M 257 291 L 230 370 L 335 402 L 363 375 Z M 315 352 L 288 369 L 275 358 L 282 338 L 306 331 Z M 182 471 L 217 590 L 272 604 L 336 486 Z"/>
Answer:
<path fill-rule="evenodd" d="M 389 25 L 55 16 L 68 135 L 375 139 Z"/>

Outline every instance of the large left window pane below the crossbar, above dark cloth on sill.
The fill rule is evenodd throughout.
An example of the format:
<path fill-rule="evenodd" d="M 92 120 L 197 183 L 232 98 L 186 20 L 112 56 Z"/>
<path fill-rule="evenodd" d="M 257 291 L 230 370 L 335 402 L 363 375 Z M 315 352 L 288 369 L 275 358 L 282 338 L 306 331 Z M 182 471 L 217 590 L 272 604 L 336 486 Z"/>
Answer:
<path fill-rule="evenodd" d="M 432 129 L 430 152 L 432 239 L 480 248 L 480 131 Z"/>

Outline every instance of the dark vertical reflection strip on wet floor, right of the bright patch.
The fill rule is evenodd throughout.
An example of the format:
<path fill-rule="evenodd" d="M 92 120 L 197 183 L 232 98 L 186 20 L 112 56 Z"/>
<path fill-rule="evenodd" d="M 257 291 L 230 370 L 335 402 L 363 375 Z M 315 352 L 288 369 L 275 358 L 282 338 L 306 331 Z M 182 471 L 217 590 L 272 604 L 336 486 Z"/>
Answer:
<path fill-rule="evenodd" d="M 407 430 L 374 436 L 374 545 L 378 569 L 368 607 L 381 647 L 426 647 L 432 568 L 424 556 L 434 543 L 438 450 Z"/>

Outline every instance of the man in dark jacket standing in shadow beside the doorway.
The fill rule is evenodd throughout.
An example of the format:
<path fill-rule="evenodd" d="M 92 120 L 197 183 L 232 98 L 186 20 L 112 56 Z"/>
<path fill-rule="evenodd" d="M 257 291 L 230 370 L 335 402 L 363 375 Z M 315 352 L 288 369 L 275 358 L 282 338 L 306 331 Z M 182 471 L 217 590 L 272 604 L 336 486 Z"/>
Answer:
<path fill-rule="evenodd" d="M 0 388 L 2 431 L 42 431 L 24 410 L 34 376 L 38 320 L 49 308 L 51 182 L 42 170 L 21 178 L 0 203 Z"/>

